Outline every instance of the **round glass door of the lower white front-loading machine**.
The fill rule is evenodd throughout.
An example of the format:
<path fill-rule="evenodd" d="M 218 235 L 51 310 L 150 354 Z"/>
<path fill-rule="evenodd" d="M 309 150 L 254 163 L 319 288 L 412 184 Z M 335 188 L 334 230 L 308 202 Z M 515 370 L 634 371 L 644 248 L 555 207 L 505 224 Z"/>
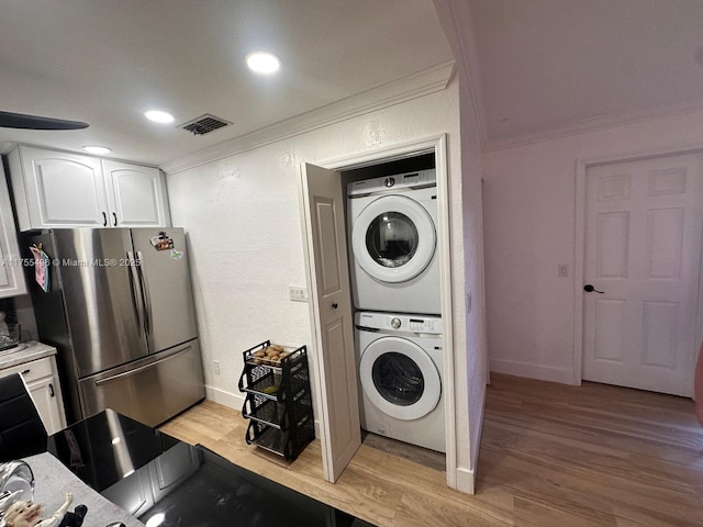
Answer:
<path fill-rule="evenodd" d="M 381 412 L 402 421 L 424 417 L 442 395 L 439 372 L 427 352 L 401 337 L 381 337 L 361 354 L 361 389 Z"/>

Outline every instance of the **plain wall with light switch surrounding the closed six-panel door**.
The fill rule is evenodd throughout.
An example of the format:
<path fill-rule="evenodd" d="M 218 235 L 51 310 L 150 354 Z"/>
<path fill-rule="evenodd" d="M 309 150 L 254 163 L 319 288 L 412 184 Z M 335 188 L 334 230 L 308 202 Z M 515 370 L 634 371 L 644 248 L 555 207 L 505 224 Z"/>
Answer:
<path fill-rule="evenodd" d="M 492 371 L 573 382 L 577 159 L 703 147 L 703 112 L 489 152 L 484 166 Z M 557 266 L 568 264 L 569 278 Z"/>

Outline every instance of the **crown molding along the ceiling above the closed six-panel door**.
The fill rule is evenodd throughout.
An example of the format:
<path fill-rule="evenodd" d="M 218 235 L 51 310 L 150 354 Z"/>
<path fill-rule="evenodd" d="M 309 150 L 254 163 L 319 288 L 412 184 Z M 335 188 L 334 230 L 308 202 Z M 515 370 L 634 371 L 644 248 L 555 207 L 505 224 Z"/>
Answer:
<path fill-rule="evenodd" d="M 483 152 L 496 152 L 517 146 L 525 146 L 545 141 L 571 137 L 601 130 L 627 126 L 631 124 L 644 123 L 659 119 L 673 117 L 689 113 L 703 111 L 703 102 L 682 102 L 677 104 L 666 104 L 645 109 L 637 109 L 629 112 L 598 115 L 594 117 L 572 121 L 559 126 L 551 126 L 526 134 L 506 137 L 503 139 L 489 139 L 483 143 Z"/>

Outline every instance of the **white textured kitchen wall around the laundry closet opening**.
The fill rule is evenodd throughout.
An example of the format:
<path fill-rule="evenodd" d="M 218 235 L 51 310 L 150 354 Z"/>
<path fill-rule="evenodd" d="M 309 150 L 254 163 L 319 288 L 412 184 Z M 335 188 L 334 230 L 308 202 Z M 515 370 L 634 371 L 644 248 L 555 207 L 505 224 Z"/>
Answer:
<path fill-rule="evenodd" d="M 429 96 L 168 175 L 172 222 L 183 226 L 189 238 L 211 399 L 241 407 L 236 382 L 242 351 L 248 347 L 267 338 L 290 345 L 311 340 L 308 305 L 288 300 L 289 285 L 305 284 L 299 164 L 321 164 L 443 133 L 448 134 L 449 187 L 457 192 L 451 195 L 450 244 L 453 289 L 460 310 L 453 351 L 464 368 L 482 354 L 480 339 L 466 335 L 462 303 L 465 279 L 475 282 L 476 271 L 465 273 L 464 265 L 461 209 L 471 203 L 462 202 L 460 190 L 458 106 L 457 82 L 451 81 L 446 90 Z M 479 172 L 472 177 L 478 181 Z M 479 195 L 470 194 L 469 201 L 480 210 Z M 470 242 L 477 243 L 475 237 Z M 480 321 L 480 310 L 471 316 Z M 213 372 L 213 360 L 221 365 L 220 375 Z M 466 386 L 466 379 L 457 385 L 457 414 L 462 416 L 470 414 Z M 457 441 L 461 446 L 457 464 L 473 474 L 468 426 L 459 429 Z"/>

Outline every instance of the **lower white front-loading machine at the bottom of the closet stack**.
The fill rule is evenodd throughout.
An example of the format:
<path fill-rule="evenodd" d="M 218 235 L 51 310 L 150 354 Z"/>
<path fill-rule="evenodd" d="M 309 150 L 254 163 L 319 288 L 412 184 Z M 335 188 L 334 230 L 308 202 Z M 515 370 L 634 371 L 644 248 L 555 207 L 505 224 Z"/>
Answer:
<path fill-rule="evenodd" d="M 442 318 L 357 312 L 361 428 L 446 451 Z"/>

